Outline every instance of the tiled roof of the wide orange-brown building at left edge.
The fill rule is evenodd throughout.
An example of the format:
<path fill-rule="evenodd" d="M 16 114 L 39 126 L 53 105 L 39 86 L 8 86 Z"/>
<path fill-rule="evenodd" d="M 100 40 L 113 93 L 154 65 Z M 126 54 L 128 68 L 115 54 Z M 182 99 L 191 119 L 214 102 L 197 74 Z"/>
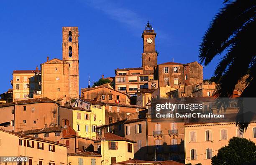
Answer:
<path fill-rule="evenodd" d="M 27 100 L 20 100 L 16 102 L 10 102 L 0 105 L 0 107 L 8 107 L 8 106 L 14 106 L 14 105 L 22 105 L 22 104 L 32 104 L 37 102 L 54 102 L 59 105 L 58 102 L 49 99 L 48 97 L 42 97 L 42 98 L 35 98 L 35 99 L 27 99 Z"/>

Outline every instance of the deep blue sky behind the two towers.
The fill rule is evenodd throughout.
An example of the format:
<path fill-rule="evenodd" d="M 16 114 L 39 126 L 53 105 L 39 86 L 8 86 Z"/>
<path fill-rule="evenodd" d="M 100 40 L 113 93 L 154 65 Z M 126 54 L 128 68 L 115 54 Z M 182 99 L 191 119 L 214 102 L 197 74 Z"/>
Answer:
<path fill-rule="evenodd" d="M 33 70 L 46 57 L 62 58 L 62 26 L 79 28 L 80 88 L 116 68 L 141 67 L 141 33 L 156 31 L 158 63 L 198 59 L 203 34 L 223 0 L 13 0 L 1 1 L 0 93 L 13 70 Z M 218 59 L 204 68 L 212 76 Z"/>

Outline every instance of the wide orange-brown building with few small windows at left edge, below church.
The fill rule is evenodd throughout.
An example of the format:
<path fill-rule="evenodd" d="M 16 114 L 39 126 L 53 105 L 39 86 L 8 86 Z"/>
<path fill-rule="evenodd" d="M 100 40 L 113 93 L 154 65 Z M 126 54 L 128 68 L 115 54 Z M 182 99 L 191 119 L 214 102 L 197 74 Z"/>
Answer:
<path fill-rule="evenodd" d="M 10 122 L 8 131 L 56 127 L 59 103 L 47 97 L 0 105 L 0 123 Z"/>

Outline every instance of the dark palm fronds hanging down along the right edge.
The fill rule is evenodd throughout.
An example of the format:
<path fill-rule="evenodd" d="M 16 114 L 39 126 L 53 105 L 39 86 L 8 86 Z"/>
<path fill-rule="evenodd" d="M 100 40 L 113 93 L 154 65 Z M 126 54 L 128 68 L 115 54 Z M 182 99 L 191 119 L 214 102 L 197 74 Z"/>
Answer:
<path fill-rule="evenodd" d="M 255 10 L 253 0 L 224 0 L 225 5 L 215 15 L 202 38 L 199 49 L 200 62 L 207 66 L 212 59 L 224 54 L 215 68 L 218 85 L 215 96 L 218 107 L 226 110 L 233 90 L 241 78 L 248 74 L 246 88 L 241 97 L 256 97 L 256 53 L 255 53 Z M 243 114 L 243 104 L 238 105 L 238 114 Z M 249 120 L 250 121 L 250 120 Z M 243 132 L 249 123 L 243 117 L 236 119 L 236 125 Z"/>

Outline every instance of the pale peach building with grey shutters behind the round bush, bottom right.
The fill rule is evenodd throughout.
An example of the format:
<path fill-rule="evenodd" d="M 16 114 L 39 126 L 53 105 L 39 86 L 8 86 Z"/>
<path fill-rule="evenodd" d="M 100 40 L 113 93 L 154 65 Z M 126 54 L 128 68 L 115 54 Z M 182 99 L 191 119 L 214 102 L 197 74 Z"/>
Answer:
<path fill-rule="evenodd" d="M 185 163 L 211 165 L 211 158 L 233 137 L 246 138 L 256 143 L 256 122 L 241 135 L 235 122 L 187 123 L 184 125 Z M 230 153 L 232 154 L 232 153 Z"/>

